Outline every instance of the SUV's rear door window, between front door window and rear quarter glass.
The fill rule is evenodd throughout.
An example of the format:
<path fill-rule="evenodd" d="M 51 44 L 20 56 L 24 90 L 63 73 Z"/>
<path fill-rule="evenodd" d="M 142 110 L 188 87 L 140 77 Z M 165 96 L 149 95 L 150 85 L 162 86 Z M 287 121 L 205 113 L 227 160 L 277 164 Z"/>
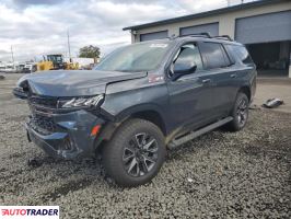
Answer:
<path fill-rule="evenodd" d="M 221 44 L 205 42 L 199 47 L 207 69 L 223 68 L 231 65 Z"/>

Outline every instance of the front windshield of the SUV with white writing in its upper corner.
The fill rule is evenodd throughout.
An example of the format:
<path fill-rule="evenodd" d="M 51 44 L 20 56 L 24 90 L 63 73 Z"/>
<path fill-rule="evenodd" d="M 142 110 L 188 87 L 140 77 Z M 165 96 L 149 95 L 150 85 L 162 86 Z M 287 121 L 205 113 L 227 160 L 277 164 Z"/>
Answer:
<path fill-rule="evenodd" d="M 161 64 L 168 45 L 170 42 L 149 42 L 116 49 L 106 56 L 95 70 L 128 72 L 153 70 Z"/>

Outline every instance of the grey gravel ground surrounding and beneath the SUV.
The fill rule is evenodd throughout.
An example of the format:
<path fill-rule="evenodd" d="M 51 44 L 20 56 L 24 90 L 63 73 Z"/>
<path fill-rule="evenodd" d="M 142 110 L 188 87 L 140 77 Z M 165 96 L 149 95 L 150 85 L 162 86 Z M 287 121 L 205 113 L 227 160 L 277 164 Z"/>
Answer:
<path fill-rule="evenodd" d="M 28 143 L 16 77 L 0 81 L 0 205 L 59 205 L 61 218 L 291 218 L 291 114 L 252 111 L 244 130 L 170 151 L 152 183 L 129 189 L 92 160 L 54 161 Z"/>

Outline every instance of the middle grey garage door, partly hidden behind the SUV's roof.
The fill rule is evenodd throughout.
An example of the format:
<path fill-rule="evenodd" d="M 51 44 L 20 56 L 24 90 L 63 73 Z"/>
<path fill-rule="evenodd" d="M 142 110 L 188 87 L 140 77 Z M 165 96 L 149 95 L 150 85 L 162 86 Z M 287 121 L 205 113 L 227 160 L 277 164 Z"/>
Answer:
<path fill-rule="evenodd" d="M 187 26 L 179 28 L 179 35 L 186 36 L 208 32 L 211 36 L 219 35 L 219 23 L 202 24 L 197 26 Z"/>

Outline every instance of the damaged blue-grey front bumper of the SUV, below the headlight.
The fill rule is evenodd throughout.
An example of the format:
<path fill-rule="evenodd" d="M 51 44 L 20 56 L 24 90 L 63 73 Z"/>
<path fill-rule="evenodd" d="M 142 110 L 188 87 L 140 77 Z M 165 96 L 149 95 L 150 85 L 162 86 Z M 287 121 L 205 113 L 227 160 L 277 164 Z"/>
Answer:
<path fill-rule="evenodd" d="M 94 126 L 103 125 L 103 119 L 83 110 L 53 115 L 51 118 L 56 130 L 46 135 L 37 130 L 30 119 L 25 124 L 28 140 L 54 158 L 72 160 L 95 154 L 96 136 L 91 136 L 91 131 Z"/>

